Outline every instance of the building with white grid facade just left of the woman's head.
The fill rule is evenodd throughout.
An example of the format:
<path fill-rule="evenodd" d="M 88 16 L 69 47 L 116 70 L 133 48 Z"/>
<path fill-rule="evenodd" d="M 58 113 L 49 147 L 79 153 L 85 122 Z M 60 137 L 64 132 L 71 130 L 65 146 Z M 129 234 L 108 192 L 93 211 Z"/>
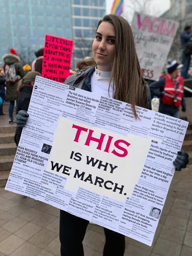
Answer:
<path fill-rule="evenodd" d="M 91 46 L 98 21 L 106 14 L 105 0 L 72 0 L 73 58 L 76 63 L 92 56 Z"/>

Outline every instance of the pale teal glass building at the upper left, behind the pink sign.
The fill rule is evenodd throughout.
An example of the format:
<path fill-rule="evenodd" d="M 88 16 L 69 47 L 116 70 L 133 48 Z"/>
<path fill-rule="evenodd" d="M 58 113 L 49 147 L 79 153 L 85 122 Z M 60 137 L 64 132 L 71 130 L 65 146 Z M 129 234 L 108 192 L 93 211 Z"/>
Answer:
<path fill-rule="evenodd" d="M 71 10 L 70 0 L 0 0 L 0 57 L 13 47 L 31 61 L 46 34 L 72 39 Z"/>

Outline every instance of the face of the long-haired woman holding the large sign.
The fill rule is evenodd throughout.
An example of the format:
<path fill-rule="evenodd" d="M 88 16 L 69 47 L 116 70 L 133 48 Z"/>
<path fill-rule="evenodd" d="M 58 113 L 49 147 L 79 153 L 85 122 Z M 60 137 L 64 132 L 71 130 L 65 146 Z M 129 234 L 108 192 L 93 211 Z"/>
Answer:
<path fill-rule="evenodd" d="M 92 50 L 97 69 L 111 71 L 115 51 L 115 29 L 111 23 L 102 22 L 99 25 Z"/>

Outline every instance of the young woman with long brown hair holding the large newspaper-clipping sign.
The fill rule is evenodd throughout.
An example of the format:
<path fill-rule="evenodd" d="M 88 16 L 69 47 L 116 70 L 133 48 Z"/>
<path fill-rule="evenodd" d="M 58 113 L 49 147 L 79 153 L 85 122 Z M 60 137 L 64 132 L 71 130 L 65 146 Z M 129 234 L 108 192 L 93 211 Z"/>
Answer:
<path fill-rule="evenodd" d="M 131 103 L 135 117 L 136 105 L 150 108 L 149 89 L 141 75 L 128 22 L 120 16 L 106 15 L 97 26 L 92 49 L 93 67 L 68 77 L 65 84 Z M 18 123 L 24 122 L 21 115 L 18 117 Z M 184 160 L 182 167 L 187 163 Z M 181 168 L 179 164 L 178 167 Z M 82 242 L 88 223 L 88 220 L 60 210 L 61 256 L 84 255 Z M 123 256 L 124 235 L 107 228 L 104 231 L 106 243 L 103 255 Z"/>

